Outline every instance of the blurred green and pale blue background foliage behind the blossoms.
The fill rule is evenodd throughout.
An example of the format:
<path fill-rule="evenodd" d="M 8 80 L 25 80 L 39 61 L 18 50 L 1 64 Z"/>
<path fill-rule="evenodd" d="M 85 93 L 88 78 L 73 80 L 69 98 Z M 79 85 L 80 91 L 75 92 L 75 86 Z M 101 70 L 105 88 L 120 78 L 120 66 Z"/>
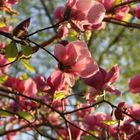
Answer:
<path fill-rule="evenodd" d="M 21 0 L 21 2 L 14 7 L 17 12 L 16 15 L 9 15 L 7 22 L 12 26 L 16 26 L 20 21 L 31 17 L 29 32 L 54 25 L 56 23 L 54 10 L 57 6 L 63 6 L 65 2 L 66 0 Z M 3 15 L 3 13 L 0 13 L 0 15 Z M 140 23 L 140 20 L 133 19 L 129 15 L 126 18 L 126 21 Z M 56 28 L 52 28 L 35 34 L 31 38 L 37 43 L 42 43 L 54 37 L 56 33 Z M 120 67 L 120 78 L 116 82 L 116 86 L 117 89 L 122 91 L 123 96 L 116 97 L 115 95 L 108 95 L 110 101 L 117 102 L 119 100 L 127 100 L 128 104 L 140 102 L 138 95 L 131 96 L 128 92 L 129 78 L 140 73 L 139 37 L 140 32 L 138 29 L 126 28 L 111 23 L 107 24 L 105 29 L 101 31 L 93 31 L 88 36 L 88 47 L 99 66 L 106 70 L 110 70 L 115 64 L 118 64 Z M 77 34 L 72 32 L 68 39 L 76 40 Z M 55 40 L 46 48 L 53 52 L 54 44 L 57 41 Z M 20 61 L 12 64 L 9 73 L 13 76 L 21 76 L 27 73 L 32 77 L 34 77 L 35 74 L 42 74 L 48 77 L 55 64 L 56 61 L 51 56 L 43 50 L 40 50 L 36 54 L 33 54 L 31 59 L 31 65 L 35 69 L 35 73 L 31 73 L 29 70 L 25 69 Z M 83 87 L 83 83 L 77 82 L 73 88 L 73 94 L 81 93 L 85 89 L 86 87 L 85 85 Z M 78 99 L 81 102 L 84 101 L 84 95 L 81 96 L 79 94 L 77 96 L 76 98 L 72 98 L 72 100 L 76 101 L 75 99 Z M 45 130 L 47 129 L 42 131 Z"/>

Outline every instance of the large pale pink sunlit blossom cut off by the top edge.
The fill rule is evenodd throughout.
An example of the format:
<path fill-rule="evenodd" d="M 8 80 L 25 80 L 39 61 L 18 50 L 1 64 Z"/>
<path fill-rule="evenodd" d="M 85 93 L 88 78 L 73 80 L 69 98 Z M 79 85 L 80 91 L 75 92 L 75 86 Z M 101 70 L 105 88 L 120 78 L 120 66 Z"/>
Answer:
<path fill-rule="evenodd" d="M 71 20 L 71 26 L 83 30 L 84 26 L 92 26 L 102 22 L 105 16 L 103 4 L 93 0 L 67 0 L 65 7 L 55 11 L 57 20 Z"/>

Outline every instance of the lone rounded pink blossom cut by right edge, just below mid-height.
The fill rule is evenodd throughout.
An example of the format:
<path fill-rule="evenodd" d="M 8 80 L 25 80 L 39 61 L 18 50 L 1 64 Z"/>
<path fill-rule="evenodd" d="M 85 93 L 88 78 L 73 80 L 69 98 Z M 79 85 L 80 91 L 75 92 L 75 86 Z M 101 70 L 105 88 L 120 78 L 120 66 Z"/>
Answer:
<path fill-rule="evenodd" d="M 129 90 L 132 93 L 140 93 L 140 75 L 135 75 L 129 80 Z"/>

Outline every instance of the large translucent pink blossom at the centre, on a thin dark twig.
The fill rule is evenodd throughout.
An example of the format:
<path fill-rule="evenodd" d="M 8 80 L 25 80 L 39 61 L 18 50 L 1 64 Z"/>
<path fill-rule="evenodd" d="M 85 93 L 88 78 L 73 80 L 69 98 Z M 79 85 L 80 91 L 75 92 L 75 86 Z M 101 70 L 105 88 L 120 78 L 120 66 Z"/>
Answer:
<path fill-rule="evenodd" d="M 86 43 L 73 41 L 66 46 L 57 44 L 54 55 L 60 63 L 58 68 L 65 72 L 80 77 L 90 77 L 98 71 L 95 60 L 91 57 Z"/>

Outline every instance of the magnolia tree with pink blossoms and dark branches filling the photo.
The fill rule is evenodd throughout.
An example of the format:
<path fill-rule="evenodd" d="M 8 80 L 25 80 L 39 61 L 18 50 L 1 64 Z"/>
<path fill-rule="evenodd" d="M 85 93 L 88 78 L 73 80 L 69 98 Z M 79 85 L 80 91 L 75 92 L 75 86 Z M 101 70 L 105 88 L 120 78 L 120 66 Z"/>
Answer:
<path fill-rule="evenodd" d="M 52 21 L 45 1 L 40 2 Z M 55 23 L 51 22 L 52 25 L 45 28 L 33 28 L 34 31 L 29 31 L 29 25 L 35 24 L 30 22 L 32 17 L 18 24 L 17 20 L 12 20 L 16 19 L 17 13 L 23 16 L 18 12 L 21 3 L 19 0 L 0 0 L 2 139 L 16 140 L 19 136 L 25 139 L 26 134 L 30 139 L 139 140 L 140 104 L 129 104 L 123 96 L 128 92 L 130 97 L 140 94 L 140 75 L 130 77 L 127 91 L 121 85 L 116 88 L 113 84 L 122 76 L 119 75 L 121 67 L 116 61 L 110 70 L 104 69 L 102 54 L 98 54 L 100 61 L 94 59 L 96 54 L 91 53 L 94 50 L 90 49 L 90 44 L 94 43 L 93 34 L 99 34 L 110 23 L 123 29 L 140 29 L 140 0 L 67 0 L 62 6 L 55 7 Z M 54 36 L 50 29 L 55 31 Z M 34 36 L 39 37 L 43 31 L 52 37 L 38 43 Z M 50 44 L 51 50 L 46 48 Z M 56 62 L 51 64 L 49 76 L 35 72 L 34 64 L 30 64 L 30 60 L 35 59 L 33 54 L 40 50 Z M 106 61 L 111 63 L 110 59 Z M 25 66 L 24 74 L 18 74 L 21 71 L 16 67 L 17 62 Z M 38 66 L 41 69 L 42 65 Z M 16 75 L 12 74 L 11 67 L 17 68 Z M 27 74 L 27 70 L 33 74 Z M 122 100 L 116 102 L 112 96 Z"/>

